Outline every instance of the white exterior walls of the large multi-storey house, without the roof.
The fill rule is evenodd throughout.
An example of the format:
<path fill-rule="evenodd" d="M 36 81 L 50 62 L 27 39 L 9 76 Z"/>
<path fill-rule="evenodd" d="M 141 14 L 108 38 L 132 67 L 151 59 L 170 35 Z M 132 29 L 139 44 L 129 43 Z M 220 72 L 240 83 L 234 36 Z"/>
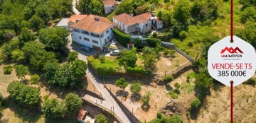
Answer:
<path fill-rule="evenodd" d="M 107 29 L 107 30 L 109 30 L 109 33 L 107 33 L 107 30 L 105 30 L 102 34 L 97 34 L 97 35 L 100 35 L 99 38 L 93 37 L 91 35 L 85 35 L 85 34 L 81 33 L 81 30 L 80 30 L 80 33 L 73 31 L 73 34 L 71 35 L 72 40 L 75 42 L 78 42 L 80 45 L 85 45 L 85 46 L 91 47 L 91 48 L 93 48 L 93 46 L 95 46 L 95 47 L 100 47 L 100 49 L 103 49 L 103 45 L 105 45 L 105 40 L 110 41 L 113 37 L 113 31 L 111 30 L 111 28 L 113 28 L 113 26 L 111 26 L 110 28 Z M 89 32 L 89 31 L 87 31 L 87 32 Z M 89 32 L 89 33 L 92 33 L 92 32 Z M 102 37 L 101 35 L 104 35 L 104 36 Z M 80 37 L 81 37 L 81 39 L 80 39 Z M 88 38 L 89 41 L 84 40 L 84 37 Z M 109 39 L 107 39 L 107 37 L 109 37 Z M 98 43 L 92 42 L 92 40 L 95 40 Z"/>

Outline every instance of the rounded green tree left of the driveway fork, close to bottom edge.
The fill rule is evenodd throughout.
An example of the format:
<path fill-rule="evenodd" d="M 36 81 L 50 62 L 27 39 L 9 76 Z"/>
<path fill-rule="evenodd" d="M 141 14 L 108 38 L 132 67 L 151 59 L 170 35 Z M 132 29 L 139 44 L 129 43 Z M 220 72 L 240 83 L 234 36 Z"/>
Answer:
<path fill-rule="evenodd" d="M 74 93 L 68 93 L 68 95 L 65 96 L 64 102 L 69 114 L 75 114 L 82 106 L 82 99 Z"/>

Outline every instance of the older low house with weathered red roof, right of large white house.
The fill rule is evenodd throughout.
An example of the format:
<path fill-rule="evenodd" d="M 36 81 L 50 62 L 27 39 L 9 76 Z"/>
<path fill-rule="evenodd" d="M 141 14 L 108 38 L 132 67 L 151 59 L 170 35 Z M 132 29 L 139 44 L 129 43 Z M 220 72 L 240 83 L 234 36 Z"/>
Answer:
<path fill-rule="evenodd" d="M 120 15 L 113 17 L 114 27 L 122 32 L 130 33 L 149 33 L 153 26 L 157 28 L 156 25 L 163 25 L 161 21 L 156 21 L 156 17 L 153 13 L 142 13 L 137 16 L 132 16 L 128 13 L 122 13 Z M 161 27 L 162 26 L 158 26 Z M 160 28 L 157 28 L 160 29 Z"/>

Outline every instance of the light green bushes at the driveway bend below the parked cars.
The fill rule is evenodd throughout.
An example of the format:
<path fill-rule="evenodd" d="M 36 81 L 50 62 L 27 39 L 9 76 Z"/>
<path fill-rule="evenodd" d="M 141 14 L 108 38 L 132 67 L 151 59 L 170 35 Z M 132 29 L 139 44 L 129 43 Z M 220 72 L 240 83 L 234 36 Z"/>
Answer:
<path fill-rule="evenodd" d="M 114 74 L 117 72 L 119 66 L 114 64 L 105 64 L 100 61 L 100 59 L 95 59 L 95 57 L 87 58 L 88 64 L 95 69 L 96 73 L 101 76 L 107 76 L 109 74 Z"/>

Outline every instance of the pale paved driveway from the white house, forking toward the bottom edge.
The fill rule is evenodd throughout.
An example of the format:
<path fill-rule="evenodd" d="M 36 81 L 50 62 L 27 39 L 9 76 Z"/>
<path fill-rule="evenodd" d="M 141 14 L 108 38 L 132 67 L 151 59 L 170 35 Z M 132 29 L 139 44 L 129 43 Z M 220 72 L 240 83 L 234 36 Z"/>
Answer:
<path fill-rule="evenodd" d="M 92 52 L 89 52 L 89 53 L 82 51 L 77 44 L 75 44 L 71 41 L 71 35 L 68 37 L 68 39 L 70 40 L 68 48 L 70 49 L 70 51 L 78 52 L 78 59 L 87 62 L 87 57 L 96 53 L 95 50 L 93 50 Z M 86 76 L 88 79 L 90 79 L 90 81 L 93 83 L 95 88 L 97 88 L 97 90 L 100 91 L 100 93 L 102 94 L 102 98 L 104 98 L 105 100 L 93 98 L 89 95 L 85 95 L 84 98 L 86 98 L 92 102 L 96 102 L 96 100 L 97 100 L 97 104 L 101 105 L 102 107 L 107 108 L 108 110 L 111 110 L 111 108 L 114 107 L 114 113 L 117 115 L 117 117 L 119 117 L 121 122 L 123 122 L 123 123 L 131 122 L 129 120 L 129 118 L 127 117 L 127 115 L 125 115 L 124 112 L 122 112 L 122 108 L 119 107 L 119 105 L 114 100 L 114 98 L 110 95 L 110 93 L 107 91 L 107 89 L 104 88 L 104 86 L 100 82 L 100 80 L 98 78 L 95 78 L 95 76 L 93 76 L 92 73 L 90 73 L 90 71 L 88 69 L 86 71 Z"/>

